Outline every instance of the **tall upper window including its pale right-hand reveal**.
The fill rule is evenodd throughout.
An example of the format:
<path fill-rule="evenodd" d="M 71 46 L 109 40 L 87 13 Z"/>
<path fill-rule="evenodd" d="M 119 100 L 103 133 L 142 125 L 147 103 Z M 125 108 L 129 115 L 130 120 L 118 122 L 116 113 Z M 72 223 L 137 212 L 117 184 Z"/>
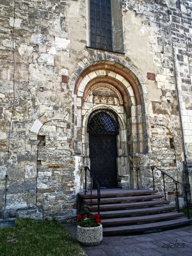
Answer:
<path fill-rule="evenodd" d="M 122 0 L 89 0 L 88 46 L 124 52 Z"/>

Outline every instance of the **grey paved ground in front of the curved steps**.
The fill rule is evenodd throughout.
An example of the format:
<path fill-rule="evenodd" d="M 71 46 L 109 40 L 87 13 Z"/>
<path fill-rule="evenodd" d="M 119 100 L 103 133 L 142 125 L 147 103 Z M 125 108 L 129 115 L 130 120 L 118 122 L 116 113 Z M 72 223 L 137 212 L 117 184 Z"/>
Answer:
<path fill-rule="evenodd" d="M 76 224 L 66 225 L 76 237 Z M 108 236 L 97 246 L 83 246 L 88 256 L 192 256 L 192 225 L 134 236 Z"/>

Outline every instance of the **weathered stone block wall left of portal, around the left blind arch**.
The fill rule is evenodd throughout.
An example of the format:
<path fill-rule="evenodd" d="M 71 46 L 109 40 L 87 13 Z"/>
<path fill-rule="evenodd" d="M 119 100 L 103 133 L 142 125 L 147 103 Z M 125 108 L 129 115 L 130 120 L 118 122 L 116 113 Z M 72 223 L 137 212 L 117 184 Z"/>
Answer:
<path fill-rule="evenodd" d="M 68 4 L 1 1 L 0 201 L 2 207 L 7 189 L 5 207 L 11 215 L 17 208 L 36 207 L 40 127 L 56 118 L 70 123 Z"/>

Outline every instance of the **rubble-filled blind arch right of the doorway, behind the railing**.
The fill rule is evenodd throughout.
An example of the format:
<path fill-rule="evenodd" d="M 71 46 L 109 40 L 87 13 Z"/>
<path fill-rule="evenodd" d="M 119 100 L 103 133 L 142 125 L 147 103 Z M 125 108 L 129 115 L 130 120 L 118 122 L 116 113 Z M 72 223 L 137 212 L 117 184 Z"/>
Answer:
<path fill-rule="evenodd" d="M 150 159 L 150 166 L 155 165 L 163 172 L 173 177 L 175 180 L 181 179 L 180 172 L 182 168 L 176 164 L 176 152 L 175 152 L 175 141 L 173 140 L 173 134 L 163 125 L 153 125 L 150 131 L 150 141 L 151 141 L 151 152 L 148 156 Z M 139 170 L 139 184 L 140 188 L 151 188 L 153 185 L 158 189 L 159 193 L 164 195 L 163 187 L 163 175 L 161 171 L 154 169 L 154 184 L 152 179 L 152 169 L 151 168 L 140 168 Z M 136 175 L 136 172 L 135 172 Z M 137 179 L 135 179 L 137 181 Z M 172 179 L 168 176 L 164 176 L 166 184 L 166 195 L 172 195 L 175 192 L 175 184 Z M 137 184 L 135 184 L 137 186 Z M 182 191 L 182 190 L 181 190 Z M 174 193 L 173 193 L 174 195 Z"/>

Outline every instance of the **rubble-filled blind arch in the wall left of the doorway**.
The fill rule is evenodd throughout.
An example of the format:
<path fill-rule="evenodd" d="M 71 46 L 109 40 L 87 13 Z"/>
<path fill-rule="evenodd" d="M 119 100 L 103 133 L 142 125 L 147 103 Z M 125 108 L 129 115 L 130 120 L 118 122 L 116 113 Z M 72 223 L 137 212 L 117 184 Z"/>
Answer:
<path fill-rule="evenodd" d="M 70 124 L 53 120 L 38 132 L 36 202 L 44 218 L 70 218 L 76 214 L 76 177 L 71 154 Z M 57 216 L 59 212 L 59 216 Z"/>

